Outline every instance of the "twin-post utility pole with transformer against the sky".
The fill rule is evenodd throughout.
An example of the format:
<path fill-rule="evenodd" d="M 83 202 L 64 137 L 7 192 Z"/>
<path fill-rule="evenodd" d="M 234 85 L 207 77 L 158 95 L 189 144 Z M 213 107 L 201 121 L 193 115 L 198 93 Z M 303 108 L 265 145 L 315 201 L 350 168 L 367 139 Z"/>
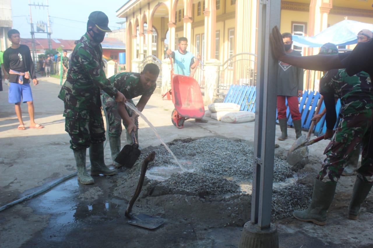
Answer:
<path fill-rule="evenodd" d="M 48 5 L 48 0 L 47 0 L 47 5 L 44 5 L 43 3 L 41 3 L 41 4 L 39 4 L 39 3 L 35 4 L 35 2 L 33 4 L 31 4 L 31 0 L 28 0 L 28 5 L 29 5 L 29 9 L 30 9 L 32 60 L 34 61 L 34 64 L 36 66 L 36 60 L 35 60 L 35 57 L 36 57 L 35 33 L 42 33 L 42 34 L 47 33 L 47 37 L 48 37 L 48 49 L 49 50 L 52 49 L 52 38 L 51 38 L 52 32 L 51 32 L 51 28 L 50 28 L 50 18 L 49 18 L 49 10 L 48 10 L 49 5 Z M 43 9 L 47 8 L 47 32 L 45 31 L 45 27 L 43 26 L 44 22 L 40 23 L 40 26 L 38 26 L 37 31 L 35 32 L 34 23 L 32 23 L 31 6 L 34 6 L 35 9 L 36 9 L 36 7 L 39 7 L 39 9 L 40 8 L 43 8 Z M 38 23 L 38 25 L 39 25 L 39 23 Z"/>

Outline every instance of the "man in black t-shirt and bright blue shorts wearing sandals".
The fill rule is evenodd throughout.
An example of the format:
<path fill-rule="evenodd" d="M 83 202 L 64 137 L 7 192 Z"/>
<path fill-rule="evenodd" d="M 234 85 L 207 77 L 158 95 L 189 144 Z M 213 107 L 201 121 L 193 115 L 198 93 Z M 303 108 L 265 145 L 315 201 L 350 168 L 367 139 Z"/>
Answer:
<path fill-rule="evenodd" d="M 15 111 L 18 117 L 18 130 L 25 130 L 25 125 L 22 121 L 21 101 L 27 102 L 28 114 L 30 117 L 29 128 L 43 128 L 34 121 L 34 103 L 32 99 L 30 80 L 31 77 L 34 85 L 39 81 L 36 79 L 35 67 L 32 62 L 30 49 L 26 45 L 21 45 L 21 38 L 16 29 L 8 31 L 9 40 L 12 46 L 4 52 L 4 69 L 9 73 L 9 103 L 15 104 Z M 7 79 L 7 75 L 4 76 Z"/>

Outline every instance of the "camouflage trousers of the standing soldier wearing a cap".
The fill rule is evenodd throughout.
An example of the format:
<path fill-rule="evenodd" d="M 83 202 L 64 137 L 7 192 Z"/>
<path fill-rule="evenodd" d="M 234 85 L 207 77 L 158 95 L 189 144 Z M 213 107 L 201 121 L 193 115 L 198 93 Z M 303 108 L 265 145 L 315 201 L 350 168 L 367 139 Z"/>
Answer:
<path fill-rule="evenodd" d="M 90 144 L 105 141 L 104 121 L 101 108 L 79 109 L 65 105 L 65 131 L 70 135 L 70 148 L 87 149 Z"/>

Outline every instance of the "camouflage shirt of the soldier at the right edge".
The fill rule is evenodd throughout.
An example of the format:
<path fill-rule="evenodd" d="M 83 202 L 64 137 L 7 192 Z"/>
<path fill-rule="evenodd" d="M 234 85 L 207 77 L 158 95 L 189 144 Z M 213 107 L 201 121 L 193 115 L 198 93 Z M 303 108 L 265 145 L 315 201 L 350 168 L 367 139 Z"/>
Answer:
<path fill-rule="evenodd" d="M 331 71 L 323 78 L 328 73 Z M 345 69 L 341 69 L 331 80 L 320 82 L 320 94 L 333 93 L 336 98 L 341 99 L 343 116 L 373 109 L 373 87 L 368 73 L 361 71 L 350 77 Z"/>

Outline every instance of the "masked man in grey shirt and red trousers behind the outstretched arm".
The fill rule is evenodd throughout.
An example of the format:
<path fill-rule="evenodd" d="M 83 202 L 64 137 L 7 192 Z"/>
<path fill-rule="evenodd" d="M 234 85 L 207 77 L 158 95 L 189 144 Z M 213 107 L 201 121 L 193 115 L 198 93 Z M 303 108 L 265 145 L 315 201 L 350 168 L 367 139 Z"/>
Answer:
<path fill-rule="evenodd" d="M 285 51 L 289 55 L 301 56 L 300 52 L 291 49 L 293 44 L 292 38 L 290 33 L 282 34 Z M 302 136 L 302 120 L 299 112 L 298 97 L 300 97 L 303 92 L 303 69 L 279 61 L 277 80 L 277 117 L 281 129 L 281 136 L 278 140 L 286 140 L 288 138 L 288 120 L 286 116 L 285 99 L 288 100 L 295 134 L 298 139 Z"/>

